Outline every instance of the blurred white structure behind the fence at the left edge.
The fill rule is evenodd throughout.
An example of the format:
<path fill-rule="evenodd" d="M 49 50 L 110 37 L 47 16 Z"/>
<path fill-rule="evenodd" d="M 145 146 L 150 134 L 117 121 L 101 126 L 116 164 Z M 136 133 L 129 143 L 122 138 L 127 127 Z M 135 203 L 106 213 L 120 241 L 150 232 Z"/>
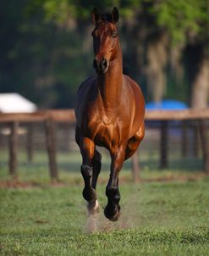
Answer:
<path fill-rule="evenodd" d="M 32 113 L 36 110 L 36 104 L 18 93 L 0 93 L 0 113 Z"/>

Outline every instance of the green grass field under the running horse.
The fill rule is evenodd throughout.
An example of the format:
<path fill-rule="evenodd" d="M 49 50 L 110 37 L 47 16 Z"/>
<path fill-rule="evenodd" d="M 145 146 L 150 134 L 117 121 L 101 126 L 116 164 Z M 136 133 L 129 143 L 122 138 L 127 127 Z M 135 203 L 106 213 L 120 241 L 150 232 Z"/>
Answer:
<path fill-rule="evenodd" d="M 72 157 L 72 171 L 61 166 L 61 182 L 54 184 L 46 166 L 20 164 L 21 182 L 4 186 L 10 184 L 7 166 L 0 166 L 0 255 L 209 254 L 208 178 L 145 168 L 144 181 L 134 185 L 127 164 L 120 175 L 121 218 L 112 223 L 102 214 L 106 163 L 97 188 L 101 212 L 90 233 L 77 160 Z"/>

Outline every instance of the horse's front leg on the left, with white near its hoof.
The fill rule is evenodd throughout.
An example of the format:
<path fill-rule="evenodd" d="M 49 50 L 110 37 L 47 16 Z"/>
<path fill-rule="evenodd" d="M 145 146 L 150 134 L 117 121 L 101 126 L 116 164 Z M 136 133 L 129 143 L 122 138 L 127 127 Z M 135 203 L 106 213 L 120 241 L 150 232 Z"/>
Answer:
<path fill-rule="evenodd" d="M 89 214 L 95 214 L 99 207 L 96 199 L 96 191 L 91 186 L 91 180 L 93 175 L 92 160 L 94 159 L 95 155 L 95 144 L 88 137 L 81 138 L 80 153 L 82 154 L 83 159 L 80 171 L 85 182 L 83 197 L 88 202 L 87 208 Z"/>

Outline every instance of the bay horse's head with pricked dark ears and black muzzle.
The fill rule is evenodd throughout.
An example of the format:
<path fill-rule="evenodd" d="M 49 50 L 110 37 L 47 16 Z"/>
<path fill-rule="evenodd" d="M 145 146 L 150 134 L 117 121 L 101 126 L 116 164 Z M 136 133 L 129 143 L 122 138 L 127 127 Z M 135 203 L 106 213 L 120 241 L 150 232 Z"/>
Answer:
<path fill-rule="evenodd" d="M 101 14 L 96 8 L 92 11 L 92 20 L 95 29 L 92 31 L 95 59 L 93 66 L 97 74 L 105 74 L 111 61 L 118 53 L 118 9 L 113 8 L 112 13 Z"/>

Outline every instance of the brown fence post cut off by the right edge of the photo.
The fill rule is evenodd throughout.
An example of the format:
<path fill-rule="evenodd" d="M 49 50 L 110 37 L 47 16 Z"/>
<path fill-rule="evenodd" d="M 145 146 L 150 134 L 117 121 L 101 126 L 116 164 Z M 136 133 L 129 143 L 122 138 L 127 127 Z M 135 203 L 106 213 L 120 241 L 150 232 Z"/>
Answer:
<path fill-rule="evenodd" d="M 209 175 L 209 147 L 207 139 L 207 126 L 206 120 L 199 120 L 200 136 L 201 136 L 201 147 L 203 153 L 204 170 L 206 175 Z"/>

